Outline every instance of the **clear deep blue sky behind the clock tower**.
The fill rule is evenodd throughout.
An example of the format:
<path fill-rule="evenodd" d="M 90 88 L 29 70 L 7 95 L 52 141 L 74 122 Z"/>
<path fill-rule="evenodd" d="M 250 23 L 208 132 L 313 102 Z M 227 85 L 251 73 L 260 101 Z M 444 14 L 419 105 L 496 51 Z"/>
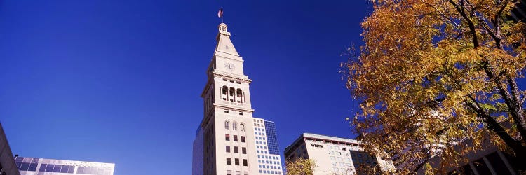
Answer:
<path fill-rule="evenodd" d="M 274 120 L 282 152 L 303 132 L 355 137 L 339 64 L 361 45 L 368 1 L 0 0 L 0 121 L 13 153 L 191 174 L 220 6 L 254 116 Z"/>

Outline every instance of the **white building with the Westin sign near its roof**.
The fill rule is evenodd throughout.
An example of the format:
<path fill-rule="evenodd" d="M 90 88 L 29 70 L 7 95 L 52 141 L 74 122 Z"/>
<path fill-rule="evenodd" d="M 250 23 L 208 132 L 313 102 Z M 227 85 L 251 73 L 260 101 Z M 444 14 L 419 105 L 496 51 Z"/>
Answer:
<path fill-rule="evenodd" d="M 356 172 L 360 165 L 379 165 L 382 171 L 394 168 L 391 160 L 363 151 L 360 141 L 319 134 L 304 133 L 285 148 L 285 160 L 296 158 L 314 160 L 314 175 L 360 174 Z"/>

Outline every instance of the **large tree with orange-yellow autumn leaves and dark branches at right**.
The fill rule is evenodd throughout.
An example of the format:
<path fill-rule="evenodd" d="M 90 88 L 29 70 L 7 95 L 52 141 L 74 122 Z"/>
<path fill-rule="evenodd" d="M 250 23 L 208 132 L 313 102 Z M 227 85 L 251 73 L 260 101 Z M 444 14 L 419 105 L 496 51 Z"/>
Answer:
<path fill-rule="evenodd" d="M 516 2 L 373 2 L 365 45 L 344 64 L 367 149 L 396 156 L 400 173 L 438 154 L 456 166 L 484 141 L 526 158 L 526 27 L 506 20 Z"/>

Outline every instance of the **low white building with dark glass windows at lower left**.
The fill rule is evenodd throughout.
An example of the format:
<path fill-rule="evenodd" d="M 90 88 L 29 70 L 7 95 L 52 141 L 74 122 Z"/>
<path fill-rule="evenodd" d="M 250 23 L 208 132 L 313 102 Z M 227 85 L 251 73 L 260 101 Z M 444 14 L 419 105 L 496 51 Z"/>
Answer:
<path fill-rule="evenodd" d="M 99 174 L 113 175 L 115 164 L 102 162 L 84 162 L 74 160 L 55 160 L 44 158 L 15 158 L 16 166 L 22 175 L 67 175 Z"/>

